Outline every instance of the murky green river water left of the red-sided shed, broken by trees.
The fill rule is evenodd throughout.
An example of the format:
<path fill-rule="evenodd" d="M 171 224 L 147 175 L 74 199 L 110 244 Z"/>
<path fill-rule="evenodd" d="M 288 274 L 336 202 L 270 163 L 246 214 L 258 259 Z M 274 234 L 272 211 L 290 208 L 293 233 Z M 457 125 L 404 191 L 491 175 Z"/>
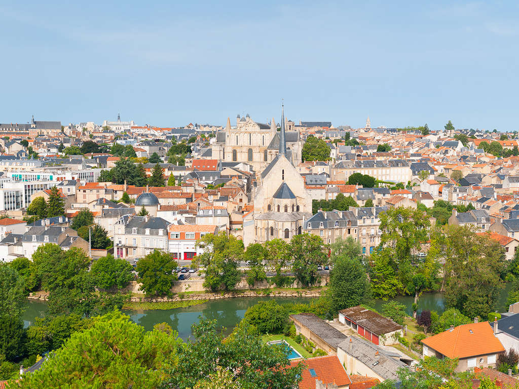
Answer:
<path fill-rule="evenodd" d="M 303 303 L 309 302 L 311 298 L 305 297 L 239 297 L 221 300 L 210 300 L 203 304 L 191 307 L 123 312 L 130 316 L 132 321 L 143 326 L 146 330 L 153 329 L 157 323 L 168 323 L 174 330 L 179 332 L 182 339 L 191 335 L 191 325 L 198 322 L 199 316 L 215 319 L 218 327 L 225 327 L 225 334 L 240 322 L 247 308 L 258 301 L 275 299 L 279 303 Z M 23 315 L 25 327 L 34 322 L 34 317 L 43 317 L 47 311 L 47 305 L 40 301 L 29 301 L 28 307 Z"/>

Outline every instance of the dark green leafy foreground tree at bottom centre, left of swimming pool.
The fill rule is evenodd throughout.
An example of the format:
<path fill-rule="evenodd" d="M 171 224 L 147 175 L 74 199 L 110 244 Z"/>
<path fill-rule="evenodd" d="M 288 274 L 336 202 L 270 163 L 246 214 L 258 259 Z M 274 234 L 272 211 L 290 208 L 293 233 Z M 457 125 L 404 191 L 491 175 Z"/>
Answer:
<path fill-rule="evenodd" d="M 222 370 L 242 388 L 292 388 L 301 381 L 303 365 L 291 366 L 283 346 L 264 343 L 251 327 L 240 325 L 224 340 L 215 321 L 201 320 L 192 332 L 195 339 L 177 351 L 179 363 L 169 371 L 166 387 L 187 389 Z"/>

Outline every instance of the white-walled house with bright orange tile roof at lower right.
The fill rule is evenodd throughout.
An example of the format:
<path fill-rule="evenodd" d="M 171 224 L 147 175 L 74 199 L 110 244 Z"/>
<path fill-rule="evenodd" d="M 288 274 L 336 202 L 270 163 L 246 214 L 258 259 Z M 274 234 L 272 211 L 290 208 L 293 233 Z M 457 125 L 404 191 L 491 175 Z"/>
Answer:
<path fill-rule="evenodd" d="M 488 322 L 464 324 L 422 340 L 423 356 L 458 358 L 456 371 L 496 367 L 504 347 Z"/>

